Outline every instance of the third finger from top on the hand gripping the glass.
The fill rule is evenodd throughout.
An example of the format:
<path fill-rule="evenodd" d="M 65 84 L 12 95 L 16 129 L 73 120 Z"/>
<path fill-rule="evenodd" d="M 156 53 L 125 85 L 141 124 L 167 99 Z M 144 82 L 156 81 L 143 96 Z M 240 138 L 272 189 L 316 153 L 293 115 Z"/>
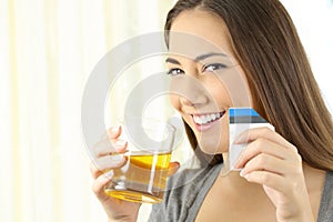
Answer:
<path fill-rule="evenodd" d="M 104 155 L 98 158 L 93 163 L 99 171 L 105 171 L 123 167 L 127 163 L 127 159 L 123 155 Z"/>

